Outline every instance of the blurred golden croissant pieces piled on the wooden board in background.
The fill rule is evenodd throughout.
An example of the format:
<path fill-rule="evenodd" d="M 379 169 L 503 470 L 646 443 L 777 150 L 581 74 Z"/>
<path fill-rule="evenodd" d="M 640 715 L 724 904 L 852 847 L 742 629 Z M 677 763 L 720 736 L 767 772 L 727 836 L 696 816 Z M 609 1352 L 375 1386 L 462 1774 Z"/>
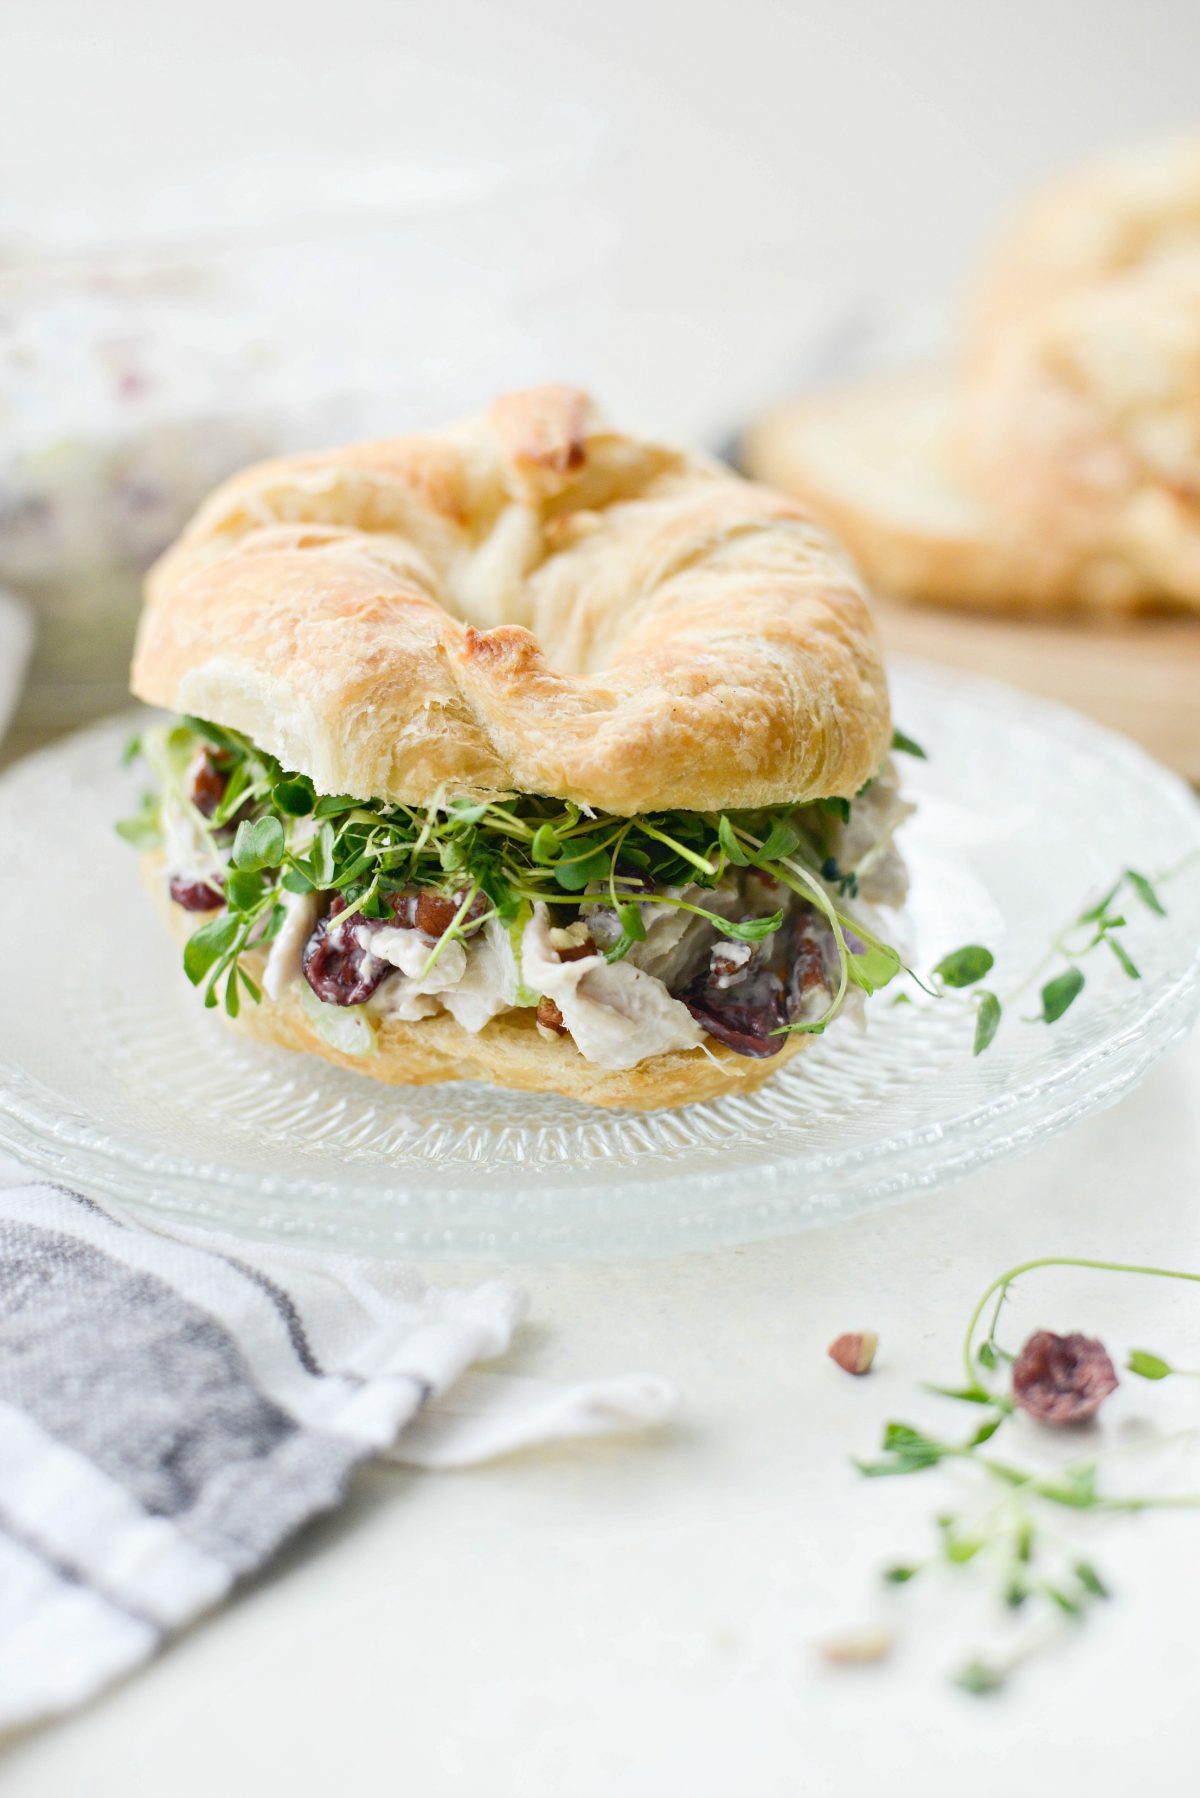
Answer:
<path fill-rule="evenodd" d="M 743 462 L 882 593 L 1200 611 L 1200 137 L 1038 192 L 975 282 L 954 367 L 783 406 Z"/>

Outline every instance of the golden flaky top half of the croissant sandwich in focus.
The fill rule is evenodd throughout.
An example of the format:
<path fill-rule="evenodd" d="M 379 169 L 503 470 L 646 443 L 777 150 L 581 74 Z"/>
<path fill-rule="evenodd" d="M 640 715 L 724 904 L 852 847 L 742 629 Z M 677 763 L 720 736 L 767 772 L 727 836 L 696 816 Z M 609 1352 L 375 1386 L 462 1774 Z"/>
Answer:
<path fill-rule="evenodd" d="M 831 539 L 569 387 L 227 482 L 151 572 L 133 690 L 407 804 L 799 802 L 855 793 L 891 737 Z"/>

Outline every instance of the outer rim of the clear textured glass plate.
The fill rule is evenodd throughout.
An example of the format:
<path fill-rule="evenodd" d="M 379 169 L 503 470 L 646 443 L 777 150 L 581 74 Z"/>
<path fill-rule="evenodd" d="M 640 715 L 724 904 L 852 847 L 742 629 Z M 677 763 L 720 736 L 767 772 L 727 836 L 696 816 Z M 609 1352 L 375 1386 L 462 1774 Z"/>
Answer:
<path fill-rule="evenodd" d="M 993 705 L 1004 699 L 1018 703 L 1025 721 L 1036 717 L 1049 735 L 1065 732 L 1078 746 L 1090 748 L 1150 782 L 1164 806 L 1178 813 L 1180 825 L 1196 836 L 1196 806 L 1186 786 L 1124 737 L 1065 707 L 1015 692 L 999 681 L 973 676 L 964 681 L 954 671 L 928 663 L 898 665 L 910 667 L 914 676 L 925 680 L 955 680 L 959 687 L 968 683 Z M 112 721 L 95 728 L 112 728 Z M 79 732 L 65 743 L 56 743 L 18 768 L 27 771 L 31 762 L 49 762 L 72 752 L 85 753 L 92 734 Z M 968 1170 L 1020 1154 L 1090 1111 L 1115 1104 L 1187 1032 L 1196 1016 L 1200 1016 L 1200 944 L 1191 960 L 1173 980 L 1157 989 L 1144 1012 L 1126 1028 L 1085 1046 L 1054 1072 L 1013 1088 L 986 1108 L 975 1102 L 943 1120 L 894 1131 L 853 1151 L 808 1151 L 802 1156 L 786 1154 L 766 1167 L 756 1167 L 752 1208 L 739 1203 L 732 1190 L 748 1178 L 743 1169 L 662 1176 L 653 1183 L 637 1174 L 615 1178 L 604 1188 L 613 1196 L 653 1185 L 642 1217 L 644 1230 L 639 1232 L 637 1242 L 626 1239 L 619 1248 L 613 1248 L 604 1233 L 603 1206 L 599 1219 L 592 1217 L 587 1228 L 565 1226 L 565 1219 L 572 1215 L 572 1199 L 578 1201 L 579 1192 L 561 1179 L 561 1165 L 554 1172 L 529 1165 L 531 1190 L 522 1201 L 525 1210 L 518 1230 L 500 1232 L 495 1224 L 484 1230 L 470 1221 L 455 1228 L 453 1210 L 459 1205 L 470 1206 L 479 1197 L 486 1179 L 482 1172 L 473 1181 L 439 1183 L 443 1217 L 437 1224 L 414 1230 L 405 1228 L 403 1187 L 378 1190 L 356 1187 L 349 1179 L 295 1176 L 275 1179 L 221 1162 L 148 1151 L 137 1142 L 110 1136 L 86 1118 L 65 1117 L 61 1095 L 27 1079 L 20 1066 L 4 1061 L 0 1061 L 0 1145 L 41 1172 L 79 1185 L 99 1197 L 117 1199 L 131 1210 L 173 1215 L 264 1241 L 336 1244 L 338 1250 L 371 1248 L 376 1253 L 439 1260 L 671 1253 L 682 1248 L 763 1241 L 840 1221 L 898 1203 L 910 1192 L 934 1190 Z M 981 1136 L 981 1129 L 986 1135 Z M 914 1153 L 921 1153 L 918 1162 L 910 1160 Z M 901 1162 L 901 1165 L 891 1178 L 883 1178 L 874 1172 L 882 1162 Z M 554 1174 L 560 1176 L 558 1181 Z M 786 1185 L 795 1176 L 802 1176 L 802 1183 L 799 1190 L 788 1192 Z M 831 1185 L 819 1185 L 831 1176 L 837 1176 L 837 1192 Z M 856 1176 L 853 1185 L 847 1183 L 851 1176 Z M 678 1194 L 687 1194 L 687 1210 L 678 1212 L 671 1205 L 662 1205 L 664 1224 L 655 1228 L 658 1201 Z M 829 1203 L 833 1197 L 835 1206 Z M 338 1212 L 311 1214 L 311 1208 L 326 1208 L 331 1203 L 344 1206 L 347 1199 L 353 1201 L 358 1219 L 372 1219 L 369 1226 L 356 1226 L 354 1215 L 347 1219 Z M 538 1206 L 536 1215 L 531 1215 L 531 1203 Z M 554 1230 L 545 1228 L 549 1208 L 556 1208 Z M 378 1214 L 394 1219 L 396 1230 L 390 1237 L 376 1228 Z"/>

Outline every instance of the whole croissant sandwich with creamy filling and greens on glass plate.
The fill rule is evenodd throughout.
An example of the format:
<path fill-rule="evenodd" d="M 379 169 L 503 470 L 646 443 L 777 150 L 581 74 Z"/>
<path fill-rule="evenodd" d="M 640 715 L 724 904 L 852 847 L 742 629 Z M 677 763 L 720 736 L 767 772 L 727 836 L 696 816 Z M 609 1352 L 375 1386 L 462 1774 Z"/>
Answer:
<path fill-rule="evenodd" d="M 148 581 L 122 832 L 207 1005 L 394 1084 L 757 1086 L 900 967 L 880 645 L 792 500 L 574 388 L 268 462 Z"/>

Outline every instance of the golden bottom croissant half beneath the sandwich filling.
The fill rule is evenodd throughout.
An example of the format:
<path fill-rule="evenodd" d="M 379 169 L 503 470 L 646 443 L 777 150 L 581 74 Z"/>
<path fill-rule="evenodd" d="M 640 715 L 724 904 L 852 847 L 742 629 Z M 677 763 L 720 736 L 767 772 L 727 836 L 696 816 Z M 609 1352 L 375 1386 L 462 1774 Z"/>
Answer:
<path fill-rule="evenodd" d="M 184 912 L 171 904 L 162 879 L 162 856 L 142 856 L 142 877 L 162 912 L 167 930 L 180 944 L 212 913 Z M 246 969 L 261 973 L 261 955 L 243 957 Z M 720 1099 L 721 1093 L 752 1093 L 763 1081 L 799 1055 L 810 1036 L 792 1036 L 777 1055 L 754 1061 L 736 1055 L 723 1043 L 707 1039 L 700 1048 L 653 1055 L 637 1068 L 610 1072 L 585 1061 L 567 1037 L 547 1041 L 531 1010 L 506 1012 L 484 1025 L 479 1036 L 464 1030 L 448 1012 L 403 1023 L 380 1023 L 371 1055 L 345 1055 L 317 1036 L 295 987 L 277 1000 L 263 994 L 254 1005 L 243 1001 L 241 1014 L 228 1019 L 234 1030 L 261 1043 L 304 1050 L 338 1068 L 365 1073 L 387 1086 L 432 1086 L 439 1081 L 488 1081 L 522 1093 L 561 1093 L 588 1106 L 657 1111 L 667 1106 Z"/>

